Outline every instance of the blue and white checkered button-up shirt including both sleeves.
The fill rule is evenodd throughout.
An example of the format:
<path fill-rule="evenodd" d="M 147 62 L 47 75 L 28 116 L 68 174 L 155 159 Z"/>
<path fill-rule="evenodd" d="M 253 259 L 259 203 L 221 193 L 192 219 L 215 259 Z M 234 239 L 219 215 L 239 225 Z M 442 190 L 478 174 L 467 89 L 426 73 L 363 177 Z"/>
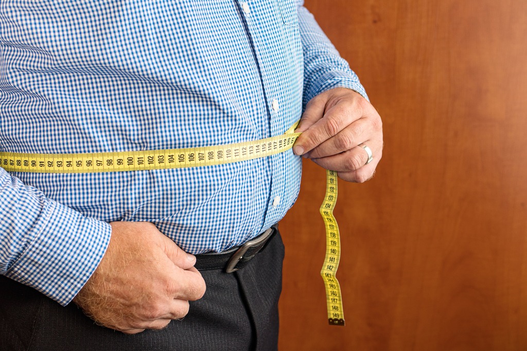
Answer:
<path fill-rule="evenodd" d="M 0 3 L 0 149 L 154 150 L 284 133 L 316 94 L 365 95 L 292 0 Z M 222 251 L 284 217 L 291 150 L 202 168 L 90 174 L 0 169 L 0 274 L 68 304 L 111 221 L 149 221 L 191 253 Z"/>

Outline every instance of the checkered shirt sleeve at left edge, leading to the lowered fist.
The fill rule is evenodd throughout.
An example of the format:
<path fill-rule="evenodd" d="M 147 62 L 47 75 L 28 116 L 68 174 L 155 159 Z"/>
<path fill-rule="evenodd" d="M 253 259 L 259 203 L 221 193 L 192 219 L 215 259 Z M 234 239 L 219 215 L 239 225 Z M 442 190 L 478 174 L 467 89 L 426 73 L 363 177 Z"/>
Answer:
<path fill-rule="evenodd" d="M 103 221 L 47 198 L 0 168 L 0 274 L 67 305 L 110 242 Z"/>

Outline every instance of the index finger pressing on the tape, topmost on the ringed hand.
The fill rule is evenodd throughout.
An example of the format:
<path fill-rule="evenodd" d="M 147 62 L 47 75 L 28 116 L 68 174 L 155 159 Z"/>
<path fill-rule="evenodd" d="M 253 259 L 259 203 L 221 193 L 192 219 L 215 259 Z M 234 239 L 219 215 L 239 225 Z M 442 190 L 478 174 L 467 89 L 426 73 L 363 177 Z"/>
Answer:
<path fill-rule="evenodd" d="M 323 118 L 305 130 L 295 142 L 295 154 L 304 154 L 337 135 L 362 116 L 357 105 L 338 104 L 326 111 Z"/>

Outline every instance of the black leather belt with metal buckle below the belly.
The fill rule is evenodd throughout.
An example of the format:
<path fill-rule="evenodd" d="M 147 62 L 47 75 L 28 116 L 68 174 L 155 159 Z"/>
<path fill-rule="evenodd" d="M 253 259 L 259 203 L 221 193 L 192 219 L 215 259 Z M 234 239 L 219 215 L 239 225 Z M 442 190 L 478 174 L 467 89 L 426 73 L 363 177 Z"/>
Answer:
<path fill-rule="evenodd" d="M 275 237 L 277 231 L 278 225 L 276 224 L 241 246 L 222 252 L 200 253 L 196 255 L 194 267 L 199 270 L 222 268 L 227 273 L 237 271 L 245 267 L 258 252 L 263 251 Z"/>

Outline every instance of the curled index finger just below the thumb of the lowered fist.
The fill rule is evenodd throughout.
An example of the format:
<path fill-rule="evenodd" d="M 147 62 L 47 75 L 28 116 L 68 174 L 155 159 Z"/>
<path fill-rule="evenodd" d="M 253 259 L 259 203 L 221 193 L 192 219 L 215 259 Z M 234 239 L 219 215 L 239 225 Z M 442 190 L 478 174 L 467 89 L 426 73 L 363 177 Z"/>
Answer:
<path fill-rule="evenodd" d="M 167 293 L 175 299 L 195 301 L 203 297 L 205 290 L 206 284 L 201 273 L 191 267 L 174 272 Z"/>

